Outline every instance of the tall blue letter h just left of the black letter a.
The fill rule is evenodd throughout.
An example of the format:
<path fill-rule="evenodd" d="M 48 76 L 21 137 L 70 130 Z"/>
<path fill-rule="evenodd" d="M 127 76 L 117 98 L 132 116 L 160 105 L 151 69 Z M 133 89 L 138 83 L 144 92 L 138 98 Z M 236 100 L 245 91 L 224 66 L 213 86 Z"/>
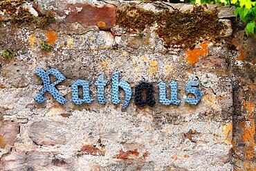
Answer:
<path fill-rule="evenodd" d="M 131 100 L 131 86 L 124 80 L 120 80 L 120 82 L 119 82 L 119 73 L 116 72 L 116 73 L 113 73 L 113 75 L 112 75 L 111 100 L 114 105 L 118 105 L 118 103 L 120 103 L 119 87 L 121 87 L 125 91 L 125 102 L 124 102 L 124 105 L 122 106 L 122 109 L 125 109 L 129 105 L 129 102 Z"/>

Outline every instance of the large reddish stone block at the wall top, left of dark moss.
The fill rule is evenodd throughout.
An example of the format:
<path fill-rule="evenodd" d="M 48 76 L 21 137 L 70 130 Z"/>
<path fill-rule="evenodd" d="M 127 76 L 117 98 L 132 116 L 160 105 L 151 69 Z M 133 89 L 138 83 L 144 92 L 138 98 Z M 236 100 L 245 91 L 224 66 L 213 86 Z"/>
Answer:
<path fill-rule="evenodd" d="M 84 26 L 98 26 L 101 30 L 109 30 L 116 24 L 116 6 L 93 6 L 89 3 L 68 4 L 70 10 L 66 16 L 68 23 L 80 23 Z"/>

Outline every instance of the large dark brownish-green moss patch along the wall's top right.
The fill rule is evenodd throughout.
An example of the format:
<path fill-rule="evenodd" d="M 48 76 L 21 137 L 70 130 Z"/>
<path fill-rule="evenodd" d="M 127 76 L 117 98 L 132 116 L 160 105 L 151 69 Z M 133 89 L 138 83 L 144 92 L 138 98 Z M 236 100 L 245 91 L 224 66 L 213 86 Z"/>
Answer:
<path fill-rule="evenodd" d="M 191 48 L 201 38 L 216 39 L 220 36 L 225 26 L 217 15 L 217 10 L 208 12 L 201 6 L 195 6 L 194 10 L 186 12 L 170 12 L 168 9 L 153 12 L 127 6 L 122 10 L 118 9 L 117 24 L 130 32 L 141 32 L 156 23 L 156 33 L 167 47 L 185 45 Z"/>

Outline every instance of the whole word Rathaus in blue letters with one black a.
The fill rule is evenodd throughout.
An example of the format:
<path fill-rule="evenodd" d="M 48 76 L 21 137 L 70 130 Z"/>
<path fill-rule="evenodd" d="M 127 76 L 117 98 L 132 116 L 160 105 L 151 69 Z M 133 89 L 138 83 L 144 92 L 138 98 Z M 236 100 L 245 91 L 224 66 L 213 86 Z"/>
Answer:
<path fill-rule="evenodd" d="M 48 91 L 53 95 L 53 98 L 60 102 L 60 104 L 66 103 L 66 98 L 62 96 L 60 91 L 56 89 L 56 85 L 60 82 L 64 81 L 66 78 L 60 71 L 56 69 L 49 69 L 48 71 L 44 71 L 43 69 L 37 69 L 37 75 L 42 79 L 44 83 L 44 87 L 42 91 L 35 97 L 35 100 L 39 103 L 45 102 L 46 98 L 44 98 L 44 93 Z M 51 82 L 50 75 L 55 76 L 57 80 L 55 82 Z M 123 103 L 123 109 L 127 108 L 129 102 L 131 101 L 131 86 L 128 82 L 124 80 L 119 80 L 119 73 L 112 74 L 112 82 L 111 82 L 111 102 L 114 105 L 118 105 L 120 103 L 119 99 L 119 88 L 122 88 L 125 91 L 125 102 Z M 104 74 L 99 75 L 98 79 L 95 81 L 95 86 L 97 87 L 97 100 L 100 105 L 104 105 L 107 102 L 107 99 L 104 97 L 104 87 L 107 86 L 107 80 L 104 78 Z M 78 94 L 78 87 L 82 87 L 82 98 L 79 97 Z M 170 99 L 166 97 L 166 84 L 165 82 L 159 82 L 159 102 L 162 105 L 179 105 L 181 100 L 178 99 L 177 93 L 177 83 L 175 81 L 170 82 Z M 143 98 L 143 90 L 145 91 L 145 98 Z M 93 98 L 90 96 L 89 91 L 89 81 L 86 80 L 76 80 L 72 86 L 72 101 L 75 105 L 82 105 L 84 103 L 91 103 Z M 199 89 L 199 82 L 198 81 L 188 81 L 185 84 L 185 93 L 192 94 L 194 97 L 185 98 L 185 102 L 190 105 L 197 105 L 198 102 L 202 98 L 202 92 Z M 153 107 L 156 102 L 154 100 L 154 89 L 153 85 L 149 82 L 140 82 L 135 88 L 135 104 L 143 107 L 145 105 L 149 105 Z"/>

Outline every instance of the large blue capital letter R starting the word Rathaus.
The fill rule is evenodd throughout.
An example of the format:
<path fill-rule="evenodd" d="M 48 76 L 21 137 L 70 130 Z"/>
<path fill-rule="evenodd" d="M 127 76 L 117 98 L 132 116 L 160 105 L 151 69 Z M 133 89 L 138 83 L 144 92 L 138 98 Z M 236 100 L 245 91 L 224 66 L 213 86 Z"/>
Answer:
<path fill-rule="evenodd" d="M 44 82 L 44 87 L 42 91 L 35 97 L 35 100 L 39 103 L 45 102 L 46 98 L 44 98 L 44 93 L 48 91 L 53 95 L 53 98 L 57 100 L 57 102 L 60 102 L 60 104 L 64 104 L 66 102 L 66 99 L 62 97 L 62 94 L 55 88 L 55 85 L 59 84 L 60 82 L 64 81 L 66 78 L 62 73 L 57 71 L 56 69 L 49 69 L 47 72 L 45 72 L 43 69 L 37 69 L 35 72 Z M 53 83 L 51 83 L 49 75 L 55 76 L 57 80 Z"/>

